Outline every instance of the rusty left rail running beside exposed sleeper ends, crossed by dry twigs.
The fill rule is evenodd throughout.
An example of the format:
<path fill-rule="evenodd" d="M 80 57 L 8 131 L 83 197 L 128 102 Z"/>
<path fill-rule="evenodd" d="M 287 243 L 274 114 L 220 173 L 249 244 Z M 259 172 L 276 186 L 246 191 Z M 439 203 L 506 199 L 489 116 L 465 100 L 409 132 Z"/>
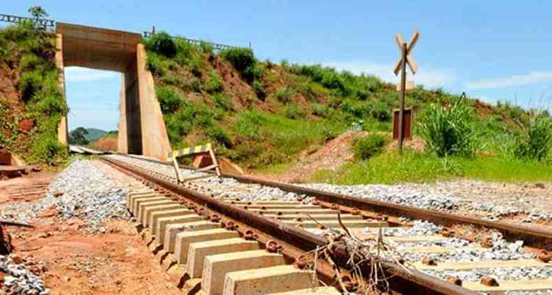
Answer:
<path fill-rule="evenodd" d="M 241 229 L 238 227 L 238 231 L 245 232 L 247 229 L 253 229 L 259 236 L 260 243 L 267 243 L 268 240 L 277 240 L 278 243 L 282 243 L 284 249 L 282 254 L 289 258 L 297 258 L 305 252 L 315 250 L 317 246 L 328 245 L 326 238 L 315 235 L 303 229 L 298 229 L 294 226 L 283 224 L 277 220 L 263 217 L 251 213 L 245 209 L 237 208 L 228 203 L 224 203 L 218 199 L 213 198 L 205 194 L 187 189 L 182 185 L 177 185 L 174 182 L 170 182 L 166 179 L 155 177 L 145 172 L 145 169 L 138 168 L 131 164 L 122 163 L 121 161 L 109 159 L 106 157 L 101 158 L 111 166 L 116 166 L 124 171 L 129 171 L 134 175 L 138 175 L 149 182 L 158 185 L 162 189 L 166 189 L 173 194 L 184 196 L 194 203 L 201 204 L 205 210 L 212 211 L 213 213 L 219 213 L 229 217 L 231 221 L 238 222 Z M 347 260 L 347 259 L 344 259 Z M 406 269 L 403 266 L 395 264 L 389 261 L 381 261 L 381 265 L 384 273 L 388 277 L 388 282 L 391 285 L 391 289 L 395 293 L 399 294 L 477 294 L 463 287 L 453 285 L 450 282 L 439 280 L 430 275 L 426 275 L 421 271 L 414 269 Z M 340 265 L 346 268 L 344 265 Z M 317 261 L 317 273 L 321 275 L 325 282 L 335 281 L 335 271 L 324 259 Z M 363 268 L 363 273 L 370 273 L 370 266 L 368 263 Z"/>

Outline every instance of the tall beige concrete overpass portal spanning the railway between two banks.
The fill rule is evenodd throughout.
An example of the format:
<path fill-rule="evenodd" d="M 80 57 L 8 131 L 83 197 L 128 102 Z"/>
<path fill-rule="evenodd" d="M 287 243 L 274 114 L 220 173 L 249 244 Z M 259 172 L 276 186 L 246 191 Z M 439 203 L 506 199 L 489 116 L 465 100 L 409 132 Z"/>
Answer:
<path fill-rule="evenodd" d="M 166 159 L 170 143 L 140 34 L 63 22 L 56 23 L 56 34 L 56 64 L 64 93 L 65 66 L 122 73 L 117 150 Z M 58 140 L 68 143 L 66 117 L 59 123 Z"/>

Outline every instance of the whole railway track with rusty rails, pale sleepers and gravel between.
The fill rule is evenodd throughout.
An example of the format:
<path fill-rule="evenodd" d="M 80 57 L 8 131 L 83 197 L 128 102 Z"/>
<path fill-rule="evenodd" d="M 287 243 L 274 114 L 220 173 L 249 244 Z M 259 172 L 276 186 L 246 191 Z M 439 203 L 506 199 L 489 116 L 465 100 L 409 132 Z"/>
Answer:
<path fill-rule="evenodd" d="M 375 273 L 386 278 L 376 287 L 402 294 L 552 292 L 550 231 L 240 175 L 182 169 L 203 178 L 179 185 L 160 162 L 102 160 L 129 176 L 129 210 L 161 263 L 184 273 L 179 284 L 189 294 L 340 294 L 365 289 Z M 443 227 L 422 233 L 423 222 L 412 220 Z M 495 233 L 479 234 L 488 229 Z M 519 250 L 497 232 L 530 246 Z M 351 236 L 377 247 L 358 247 Z"/>

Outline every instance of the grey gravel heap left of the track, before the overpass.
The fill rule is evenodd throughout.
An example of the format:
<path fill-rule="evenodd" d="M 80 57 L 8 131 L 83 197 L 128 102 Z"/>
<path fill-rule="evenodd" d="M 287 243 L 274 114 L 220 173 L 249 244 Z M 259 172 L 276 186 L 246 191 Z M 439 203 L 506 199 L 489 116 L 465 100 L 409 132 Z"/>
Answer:
<path fill-rule="evenodd" d="M 89 233 L 103 233 L 108 220 L 129 220 L 125 208 L 127 187 L 117 185 L 92 161 L 74 159 L 48 187 L 45 197 L 35 204 L 17 203 L 0 208 L 0 218 L 30 222 L 47 208 L 55 207 L 63 219 L 78 217 Z"/>

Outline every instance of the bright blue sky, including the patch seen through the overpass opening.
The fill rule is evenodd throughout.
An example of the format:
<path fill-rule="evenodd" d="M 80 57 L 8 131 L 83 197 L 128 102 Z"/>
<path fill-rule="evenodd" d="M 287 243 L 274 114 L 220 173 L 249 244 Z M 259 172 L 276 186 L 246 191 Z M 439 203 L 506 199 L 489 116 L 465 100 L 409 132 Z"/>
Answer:
<path fill-rule="evenodd" d="M 260 59 L 321 63 L 396 82 L 393 36 L 421 38 L 412 55 L 416 84 L 549 107 L 552 1 L 8 1 L 1 13 L 147 31 L 230 45 L 252 43 Z M 120 75 L 66 69 L 70 128 L 116 129 Z"/>

